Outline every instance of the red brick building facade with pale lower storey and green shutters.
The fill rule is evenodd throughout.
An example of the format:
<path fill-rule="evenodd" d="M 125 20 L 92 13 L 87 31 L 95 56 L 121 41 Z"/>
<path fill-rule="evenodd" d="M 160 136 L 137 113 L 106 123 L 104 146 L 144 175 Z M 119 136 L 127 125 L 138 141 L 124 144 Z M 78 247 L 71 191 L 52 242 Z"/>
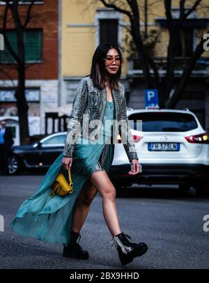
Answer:
<path fill-rule="evenodd" d="M 20 1 L 22 23 L 30 1 Z M 26 100 L 29 105 L 29 135 L 45 133 L 45 112 L 58 103 L 58 8 L 57 0 L 35 1 L 31 19 L 24 32 L 26 59 Z M 5 3 L 0 2 L 0 29 L 2 29 Z M 11 15 L 7 17 L 6 35 L 13 49 L 17 50 L 15 26 Z M 8 121 L 13 128 L 15 144 L 20 143 L 15 87 L 17 64 L 10 56 L 6 45 L 0 51 L 0 120 Z"/>

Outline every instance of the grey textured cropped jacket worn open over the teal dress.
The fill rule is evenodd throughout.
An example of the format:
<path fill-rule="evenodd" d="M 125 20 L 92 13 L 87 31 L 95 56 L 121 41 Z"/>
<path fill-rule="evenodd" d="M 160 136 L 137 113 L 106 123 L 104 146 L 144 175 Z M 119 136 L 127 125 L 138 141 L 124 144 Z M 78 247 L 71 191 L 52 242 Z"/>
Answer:
<path fill-rule="evenodd" d="M 112 89 L 116 111 L 116 118 L 113 123 L 114 141 L 116 141 L 119 133 L 127 158 L 131 162 L 132 159 L 138 159 L 138 157 L 127 119 L 125 88 L 121 83 L 118 84 L 118 90 Z M 98 139 L 102 128 L 102 118 L 104 116 L 106 101 L 107 91 L 105 88 L 100 90 L 93 86 L 90 76 L 81 79 L 72 102 L 72 111 L 69 116 L 68 132 L 63 150 L 64 157 L 73 157 L 77 137 L 81 136 L 89 140 Z M 97 128 L 90 126 L 93 121 L 98 121 Z"/>

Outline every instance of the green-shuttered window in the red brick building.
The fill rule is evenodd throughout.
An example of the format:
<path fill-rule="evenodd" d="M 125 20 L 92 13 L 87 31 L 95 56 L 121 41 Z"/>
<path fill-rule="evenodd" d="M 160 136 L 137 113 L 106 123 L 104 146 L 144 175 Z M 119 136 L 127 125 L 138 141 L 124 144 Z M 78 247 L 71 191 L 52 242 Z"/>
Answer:
<path fill-rule="evenodd" d="M 17 52 L 17 34 L 14 29 L 6 31 L 6 36 Z M 42 30 L 26 29 L 24 31 L 24 47 L 26 63 L 37 63 L 42 61 Z M 4 50 L 0 52 L 0 63 L 15 63 L 15 59 L 10 55 L 5 45 Z"/>

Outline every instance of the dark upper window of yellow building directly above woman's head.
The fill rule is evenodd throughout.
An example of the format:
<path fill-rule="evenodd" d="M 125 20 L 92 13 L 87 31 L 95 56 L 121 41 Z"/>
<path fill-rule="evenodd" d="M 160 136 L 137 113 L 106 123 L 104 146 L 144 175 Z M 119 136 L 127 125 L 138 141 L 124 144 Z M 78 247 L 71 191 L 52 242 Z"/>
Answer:
<path fill-rule="evenodd" d="M 100 20 L 100 44 L 106 42 L 118 45 L 118 20 Z"/>

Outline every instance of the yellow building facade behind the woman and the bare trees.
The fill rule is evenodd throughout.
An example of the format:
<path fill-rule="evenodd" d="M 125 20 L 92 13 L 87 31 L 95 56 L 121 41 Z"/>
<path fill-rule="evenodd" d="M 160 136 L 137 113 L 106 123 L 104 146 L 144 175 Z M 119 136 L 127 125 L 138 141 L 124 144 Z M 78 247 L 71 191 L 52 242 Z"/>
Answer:
<path fill-rule="evenodd" d="M 123 1 L 121 1 L 123 2 Z M 138 3 L 143 1 L 138 1 Z M 145 1 L 144 1 L 145 2 Z M 172 1 L 171 13 L 173 17 L 179 15 L 179 2 Z M 207 1 L 203 1 L 205 4 Z M 164 61 L 167 56 L 169 33 L 165 18 L 164 1 L 147 0 L 146 10 L 140 7 L 140 22 L 143 32 L 157 35 L 157 43 L 153 48 L 159 68 L 160 79 L 165 77 Z M 130 45 L 130 22 L 123 15 L 112 8 L 105 8 L 100 1 L 91 0 L 62 0 L 61 5 L 61 61 L 60 61 L 60 100 L 59 105 L 69 104 L 75 97 L 79 80 L 90 73 L 91 58 L 95 48 L 102 42 L 118 43 L 123 52 L 123 68 L 121 83 L 125 85 L 127 105 L 140 109 L 145 107 L 144 76 L 137 64 Z M 205 14 L 206 13 L 206 14 Z M 182 75 L 182 62 L 185 62 L 198 43 L 198 36 L 208 29 L 206 9 L 199 8 L 189 15 L 189 21 L 177 36 L 176 60 L 179 69 L 175 72 L 175 81 Z M 189 23 L 189 24 L 188 24 Z M 154 31 L 154 33 L 153 33 Z M 128 40 L 127 40 L 128 39 Z M 176 105 L 176 108 L 191 109 L 200 119 L 206 130 L 209 130 L 208 112 L 208 52 L 204 52 L 198 66 L 192 72 L 187 87 Z M 166 83 L 166 82 L 165 82 Z"/>

